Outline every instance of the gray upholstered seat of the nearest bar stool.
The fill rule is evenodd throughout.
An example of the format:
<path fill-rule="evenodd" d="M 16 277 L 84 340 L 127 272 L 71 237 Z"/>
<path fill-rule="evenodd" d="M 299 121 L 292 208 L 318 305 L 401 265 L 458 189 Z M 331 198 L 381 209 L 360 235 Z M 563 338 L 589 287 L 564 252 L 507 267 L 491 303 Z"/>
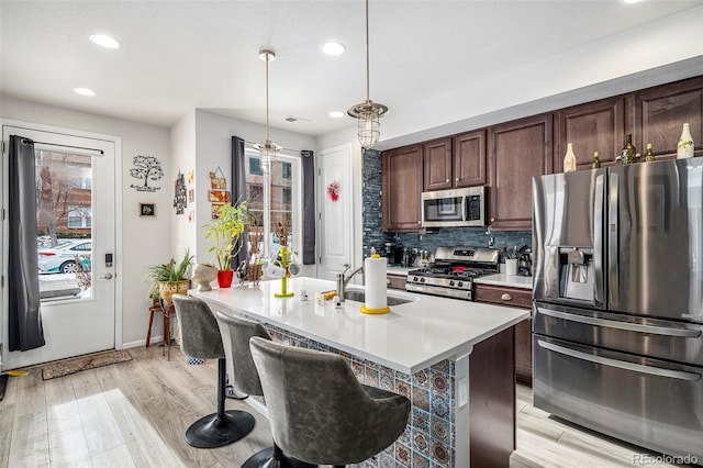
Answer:
<path fill-rule="evenodd" d="M 410 401 L 366 387 L 342 356 L 254 337 L 274 439 L 286 454 L 315 465 L 358 464 L 405 430 Z"/>

